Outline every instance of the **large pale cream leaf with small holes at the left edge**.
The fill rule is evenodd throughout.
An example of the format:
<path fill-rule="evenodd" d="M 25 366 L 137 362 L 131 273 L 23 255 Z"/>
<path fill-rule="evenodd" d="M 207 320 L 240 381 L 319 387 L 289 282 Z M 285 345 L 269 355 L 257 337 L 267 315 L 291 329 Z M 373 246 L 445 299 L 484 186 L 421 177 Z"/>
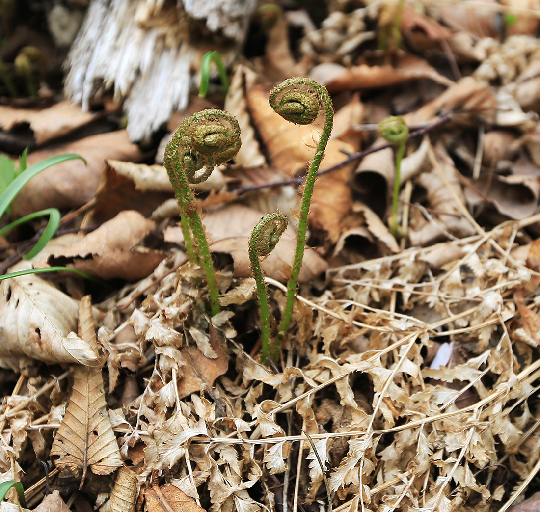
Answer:
<path fill-rule="evenodd" d="M 0 358 L 99 365 L 95 346 L 75 334 L 77 316 L 77 301 L 35 274 L 2 281 Z"/>

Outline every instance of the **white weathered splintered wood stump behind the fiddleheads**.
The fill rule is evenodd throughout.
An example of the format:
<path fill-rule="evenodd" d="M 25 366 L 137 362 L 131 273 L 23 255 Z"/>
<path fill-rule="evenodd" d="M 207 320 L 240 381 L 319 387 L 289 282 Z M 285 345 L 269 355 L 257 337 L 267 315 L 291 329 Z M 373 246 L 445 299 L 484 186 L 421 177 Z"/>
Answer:
<path fill-rule="evenodd" d="M 143 139 L 187 105 L 206 50 L 234 60 L 254 8 L 255 0 L 92 0 L 66 60 L 65 93 L 87 109 L 112 88 L 125 100 L 130 138 Z M 215 41 L 193 35 L 201 23 Z"/>

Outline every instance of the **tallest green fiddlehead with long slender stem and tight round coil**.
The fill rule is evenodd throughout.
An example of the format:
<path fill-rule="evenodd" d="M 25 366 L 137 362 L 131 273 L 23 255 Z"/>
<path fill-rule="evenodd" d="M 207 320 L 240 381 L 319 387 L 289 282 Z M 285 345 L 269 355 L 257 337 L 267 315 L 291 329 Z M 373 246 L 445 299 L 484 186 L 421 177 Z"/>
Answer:
<path fill-rule="evenodd" d="M 285 311 L 281 317 L 278 333 L 278 345 L 285 337 L 289 323 L 291 322 L 294 295 L 296 284 L 300 275 L 300 267 L 306 243 L 307 217 L 309 204 L 313 194 L 313 186 L 317 177 L 317 171 L 321 165 L 322 157 L 325 154 L 326 145 L 332 133 L 334 119 L 334 107 L 332 99 L 326 87 L 318 84 L 309 78 L 288 78 L 285 82 L 274 87 L 268 101 L 272 108 L 287 121 L 295 124 L 311 124 L 318 118 L 321 109 L 324 111 L 325 124 L 323 126 L 321 139 L 315 151 L 311 166 L 305 180 L 305 187 L 302 194 L 300 215 L 298 219 L 298 235 L 296 237 L 296 249 L 294 253 L 291 277 L 287 284 L 287 301 Z"/>

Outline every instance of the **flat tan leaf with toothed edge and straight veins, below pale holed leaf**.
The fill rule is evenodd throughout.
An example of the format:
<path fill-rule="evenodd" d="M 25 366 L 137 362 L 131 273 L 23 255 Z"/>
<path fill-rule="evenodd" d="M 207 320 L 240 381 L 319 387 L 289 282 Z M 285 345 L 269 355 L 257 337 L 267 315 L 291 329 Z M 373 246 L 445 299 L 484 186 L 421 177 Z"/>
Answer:
<path fill-rule="evenodd" d="M 108 475 L 122 466 L 120 450 L 105 405 L 101 368 L 76 366 L 71 398 L 64 420 L 52 443 L 51 457 L 59 469 L 82 472 L 82 489 L 88 468 Z"/>

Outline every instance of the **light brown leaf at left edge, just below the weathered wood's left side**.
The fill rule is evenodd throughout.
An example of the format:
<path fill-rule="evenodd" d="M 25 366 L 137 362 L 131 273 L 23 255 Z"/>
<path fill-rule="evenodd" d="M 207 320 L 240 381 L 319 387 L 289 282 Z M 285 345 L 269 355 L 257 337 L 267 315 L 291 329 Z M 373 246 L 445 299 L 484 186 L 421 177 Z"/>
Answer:
<path fill-rule="evenodd" d="M 17 136 L 20 136 L 21 127 L 29 125 L 38 146 L 76 130 L 93 117 L 92 113 L 69 101 L 55 103 L 43 110 L 0 105 L 0 128 L 5 132 L 17 130 Z"/>

